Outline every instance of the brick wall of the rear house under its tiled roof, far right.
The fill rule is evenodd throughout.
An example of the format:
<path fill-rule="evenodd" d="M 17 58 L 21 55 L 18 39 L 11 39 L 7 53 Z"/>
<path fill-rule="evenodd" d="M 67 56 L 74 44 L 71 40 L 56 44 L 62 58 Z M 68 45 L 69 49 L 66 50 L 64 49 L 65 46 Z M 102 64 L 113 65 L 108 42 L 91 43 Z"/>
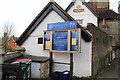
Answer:
<path fill-rule="evenodd" d="M 106 20 L 106 25 L 108 27 L 103 27 L 103 22 L 102 20 L 99 21 L 99 28 L 115 38 L 116 40 L 116 46 L 120 46 L 120 21 L 119 20 Z"/>

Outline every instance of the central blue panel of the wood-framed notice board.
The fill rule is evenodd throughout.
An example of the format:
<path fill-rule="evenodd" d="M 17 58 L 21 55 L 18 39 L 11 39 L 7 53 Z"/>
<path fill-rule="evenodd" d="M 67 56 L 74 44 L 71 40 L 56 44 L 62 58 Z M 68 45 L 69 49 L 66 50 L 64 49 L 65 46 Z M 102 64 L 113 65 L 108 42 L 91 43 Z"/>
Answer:
<path fill-rule="evenodd" d="M 53 32 L 52 50 L 68 50 L 68 31 Z"/>

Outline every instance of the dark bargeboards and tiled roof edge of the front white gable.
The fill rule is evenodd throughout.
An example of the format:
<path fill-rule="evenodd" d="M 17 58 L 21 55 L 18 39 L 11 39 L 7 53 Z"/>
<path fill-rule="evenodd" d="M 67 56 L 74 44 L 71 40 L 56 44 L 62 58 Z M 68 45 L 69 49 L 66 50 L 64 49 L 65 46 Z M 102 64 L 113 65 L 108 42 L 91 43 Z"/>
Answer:
<path fill-rule="evenodd" d="M 38 14 L 38 16 L 32 21 L 28 28 L 23 32 L 23 34 L 17 40 L 18 45 L 22 43 L 29 37 L 29 35 L 36 29 L 36 27 L 42 22 L 42 20 L 49 14 L 51 10 L 57 12 L 65 21 L 75 21 L 65 10 L 63 10 L 56 2 L 49 2 L 44 9 Z M 84 40 L 90 41 L 91 35 L 86 32 L 86 30 L 77 23 L 77 27 L 81 28 L 81 36 Z"/>

